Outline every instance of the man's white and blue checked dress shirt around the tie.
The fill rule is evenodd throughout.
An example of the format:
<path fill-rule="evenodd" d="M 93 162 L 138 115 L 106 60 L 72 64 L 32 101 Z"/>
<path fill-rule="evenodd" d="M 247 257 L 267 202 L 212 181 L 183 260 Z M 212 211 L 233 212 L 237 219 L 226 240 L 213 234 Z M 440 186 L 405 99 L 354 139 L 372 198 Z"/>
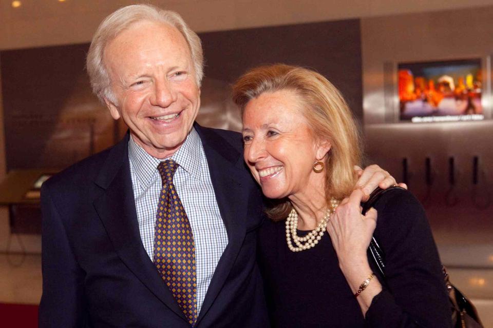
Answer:
<path fill-rule="evenodd" d="M 128 141 L 128 157 L 140 236 L 147 255 L 152 260 L 154 226 L 161 192 L 161 177 L 157 167 L 164 159 L 147 154 L 132 137 Z M 194 234 L 197 311 L 200 313 L 214 270 L 227 245 L 226 229 L 219 213 L 202 142 L 195 129 L 192 129 L 183 145 L 170 159 L 179 165 L 173 183 Z"/>

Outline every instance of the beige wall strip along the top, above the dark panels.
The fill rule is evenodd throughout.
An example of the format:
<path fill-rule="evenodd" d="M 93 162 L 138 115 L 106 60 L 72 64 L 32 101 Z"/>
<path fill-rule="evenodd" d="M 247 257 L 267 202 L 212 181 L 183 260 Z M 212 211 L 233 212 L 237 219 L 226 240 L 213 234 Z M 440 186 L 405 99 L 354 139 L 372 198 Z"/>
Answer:
<path fill-rule="evenodd" d="M 0 49 L 89 42 L 101 20 L 129 0 L 0 0 Z M 493 4 L 492 0 L 154 0 L 198 32 L 287 25 Z"/>

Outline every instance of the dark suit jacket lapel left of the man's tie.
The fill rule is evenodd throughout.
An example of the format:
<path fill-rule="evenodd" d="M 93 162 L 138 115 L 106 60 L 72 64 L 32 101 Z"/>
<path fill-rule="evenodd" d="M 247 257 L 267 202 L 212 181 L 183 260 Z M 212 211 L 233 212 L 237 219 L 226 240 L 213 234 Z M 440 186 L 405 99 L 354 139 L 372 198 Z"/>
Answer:
<path fill-rule="evenodd" d="M 94 208 L 121 260 L 128 269 L 170 310 L 186 318 L 172 293 L 149 259 L 141 241 L 128 161 L 128 135 L 115 146 L 96 184 L 104 193 L 94 200 Z"/>

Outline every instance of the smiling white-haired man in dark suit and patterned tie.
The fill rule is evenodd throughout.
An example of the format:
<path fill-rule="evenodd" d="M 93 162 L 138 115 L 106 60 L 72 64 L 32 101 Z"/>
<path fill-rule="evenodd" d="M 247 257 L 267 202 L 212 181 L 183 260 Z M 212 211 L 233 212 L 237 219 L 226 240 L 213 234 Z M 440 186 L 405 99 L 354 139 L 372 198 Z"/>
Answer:
<path fill-rule="evenodd" d="M 255 261 L 262 200 L 237 133 L 195 124 L 200 39 L 174 12 L 122 8 L 87 56 L 129 128 L 42 188 L 40 327 L 266 327 Z M 370 190 L 392 184 L 378 168 Z"/>

